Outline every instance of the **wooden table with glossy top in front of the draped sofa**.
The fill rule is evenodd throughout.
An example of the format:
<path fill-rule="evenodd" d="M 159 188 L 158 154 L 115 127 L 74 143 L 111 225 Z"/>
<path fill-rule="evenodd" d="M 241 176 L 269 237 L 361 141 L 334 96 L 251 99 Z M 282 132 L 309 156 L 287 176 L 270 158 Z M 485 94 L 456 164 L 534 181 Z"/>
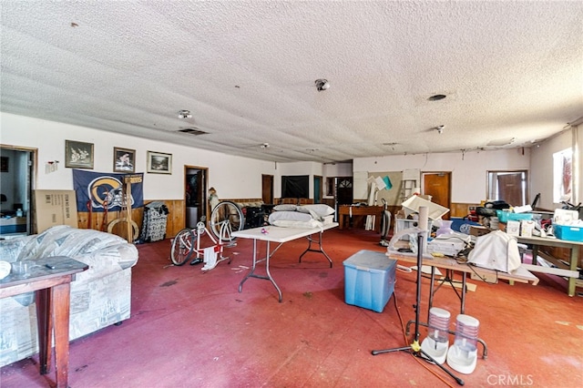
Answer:
<path fill-rule="evenodd" d="M 67 387 L 69 362 L 70 285 L 77 272 L 86 271 L 85 263 L 66 257 L 30 260 L 28 277 L 10 274 L 0 281 L 0 298 L 36 291 L 38 358 L 40 373 L 51 369 L 53 330 L 55 331 L 56 387 Z M 46 265 L 54 265 L 49 269 Z"/>

